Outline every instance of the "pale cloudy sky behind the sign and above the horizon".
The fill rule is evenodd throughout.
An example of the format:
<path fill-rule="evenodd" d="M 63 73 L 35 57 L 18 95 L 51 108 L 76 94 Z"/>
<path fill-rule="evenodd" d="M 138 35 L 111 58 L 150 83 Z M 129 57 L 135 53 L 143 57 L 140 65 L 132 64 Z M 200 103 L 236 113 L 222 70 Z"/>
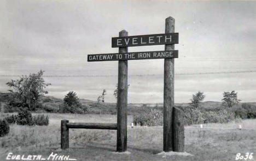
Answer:
<path fill-rule="evenodd" d="M 174 102 L 204 92 L 221 102 L 224 91 L 256 101 L 256 1 L 34 1 L 0 0 L 0 92 L 6 83 L 44 70 L 48 96 L 116 102 L 118 62 L 87 62 L 87 55 L 116 53 L 111 38 L 165 32 L 175 19 Z M 129 52 L 164 50 L 164 45 L 129 47 Z M 162 103 L 164 59 L 128 62 L 128 103 Z M 218 73 L 218 74 L 217 74 Z M 15 75 L 15 76 L 13 76 Z M 60 76 L 69 77 L 60 77 Z"/>

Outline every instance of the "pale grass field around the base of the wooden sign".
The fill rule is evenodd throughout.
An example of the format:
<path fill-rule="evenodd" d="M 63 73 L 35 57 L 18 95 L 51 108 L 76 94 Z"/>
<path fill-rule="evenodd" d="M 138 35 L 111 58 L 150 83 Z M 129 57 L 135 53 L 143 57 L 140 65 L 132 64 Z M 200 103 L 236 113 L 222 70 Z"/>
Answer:
<path fill-rule="evenodd" d="M 6 114 L 1 113 L 1 118 Z M 128 127 L 128 151 L 116 153 L 115 130 L 70 129 L 68 150 L 60 150 L 60 120 L 69 122 L 116 122 L 115 115 L 47 114 L 49 126 L 10 126 L 0 138 L 0 160 L 7 154 L 47 158 L 51 152 L 77 160 L 235 160 L 236 154 L 254 153 L 256 160 L 256 120 L 226 124 L 210 123 L 185 127 L 185 152 L 193 156 L 158 155 L 162 152 L 162 127 Z M 129 116 L 130 123 L 132 117 Z M 242 125 L 242 130 L 238 125 Z M 249 160 L 249 159 L 248 159 Z"/>

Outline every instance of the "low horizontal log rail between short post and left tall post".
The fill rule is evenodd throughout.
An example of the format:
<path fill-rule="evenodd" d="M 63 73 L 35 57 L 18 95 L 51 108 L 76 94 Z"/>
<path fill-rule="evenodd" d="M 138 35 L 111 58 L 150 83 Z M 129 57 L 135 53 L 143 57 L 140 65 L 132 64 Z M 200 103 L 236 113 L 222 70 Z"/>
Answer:
<path fill-rule="evenodd" d="M 67 123 L 67 128 L 117 130 L 117 123 Z"/>

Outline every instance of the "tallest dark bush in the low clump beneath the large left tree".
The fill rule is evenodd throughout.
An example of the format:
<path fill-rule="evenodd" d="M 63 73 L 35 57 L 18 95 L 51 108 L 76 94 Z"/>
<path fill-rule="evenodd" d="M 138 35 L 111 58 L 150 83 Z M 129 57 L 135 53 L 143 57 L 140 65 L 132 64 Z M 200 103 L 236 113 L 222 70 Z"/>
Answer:
<path fill-rule="evenodd" d="M 33 122 L 33 117 L 32 117 L 31 112 L 29 112 L 27 110 L 19 112 L 16 123 L 19 125 L 33 126 L 34 122 Z"/>

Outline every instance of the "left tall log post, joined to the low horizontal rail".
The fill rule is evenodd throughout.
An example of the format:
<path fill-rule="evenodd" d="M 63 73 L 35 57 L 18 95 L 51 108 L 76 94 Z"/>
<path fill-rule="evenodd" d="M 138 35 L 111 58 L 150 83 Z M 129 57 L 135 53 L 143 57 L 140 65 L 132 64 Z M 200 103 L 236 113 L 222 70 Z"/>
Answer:
<path fill-rule="evenodd" d="M 126 37 L 128 32 L 119 32 L 119 37 Z M 119 53 L 128 52 L 128 47 L 119 47 Z M 128 62 L 118 61 L 118 118 L 117 118 L 117 151 L 127 150 L 127 81 Z"/>

